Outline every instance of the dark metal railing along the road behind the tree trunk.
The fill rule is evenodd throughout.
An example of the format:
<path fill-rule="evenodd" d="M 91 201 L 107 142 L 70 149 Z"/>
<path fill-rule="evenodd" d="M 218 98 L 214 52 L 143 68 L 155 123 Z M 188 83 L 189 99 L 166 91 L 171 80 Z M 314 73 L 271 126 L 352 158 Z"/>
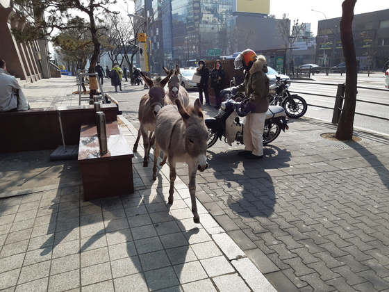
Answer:
<path fill-rule="evenodd" d="M 336 91 L 336 96 L 335 97 L 333 95 L 320 95 L 320 94 L 317 94 L 317 93 L 298 92 L 298 91 L 294 91 L 294 90 L 289 90 L 289 91 L 293 92 L 293 93 L 304 94 L 304 95 L 313 95 L 313 96 L 319 96 L 319 97 L 332 97 L 332 98 L 335 98 L 335 104 L 334 104 L 333 108 L 330 108 L 328 106 L 318 106 L 316 104 L 308 104 L 308 106 L 314 106 L 314 107 L 317 107 L 317 108 L 326 108 L 326 109 L 333 110 L 332 123 L 333 124 L 338 124 L 339 118 L 340 118 L 340 113 L 342 112 L 343 102 L 345 100 L 345 88 L 346 88 L 345 83 L 333 84 L 333 83 L 319 83 L 319 82 L 306 82 L 306 81 L 291 81 L 291 82 L 293 82 L 293 83 L 317 84 L 317 85 L 322 85 L 322 86 L 337 86 L 338 90 Z M 356 88 L 357 89 L 361 88 L 361 89 L 368 89 L 368 90 L 376 90 L 376 91 L 388 92 L 388 90 L 382 89 L 382 88 L 371 88 L 371 87 L 365 87 L 365 86 L 357 86 Z M 370 100 L 363 100 L 363 99 L 358 99 L 358 98 L 356 99 L 356 102 L 365 102 L 365 103 L 368 103 L 368 104 L 376 104 L 376 105 L 379 105 L 379 106 L 389 106 L 389 104 L 383 104 L 382 102 L 372 102 Z M 363 115 L 365 117 L 374 117 L 376 119 L 389 121 L 388 117 L 381 117 L 379 115 L 369 115 L 367 113 L 358 113 L 358 112 L 355 112 L 355 113 L 356 113 L 356 115 Z"/>

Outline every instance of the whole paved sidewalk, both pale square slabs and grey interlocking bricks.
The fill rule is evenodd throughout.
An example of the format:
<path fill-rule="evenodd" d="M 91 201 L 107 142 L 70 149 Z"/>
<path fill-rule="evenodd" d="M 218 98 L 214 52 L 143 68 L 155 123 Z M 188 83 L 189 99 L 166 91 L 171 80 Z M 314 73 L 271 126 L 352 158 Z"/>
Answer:
<path fill-rule="evenodd" d="M 40 85 L 52 87 L 51 82 Z M 123 111 L 123 119 L 119 118 L 130 145 L 142 94 L 144 90 L 136 86 L 113 93 Z M 215 110 L 204 108 L 204 113 L 213 116 Z M 0 277 L 6 279 L 0 289 L 8 283 L 9 291 L 24 287 L 33 291 L 34 285 L 43 291 L 51 287 L 60 291 L 63 286 L 72 289 L 73 283 L 74 291 L 81 286 L 83 291 L 121 291 L 123 287 L 132 291 L 126 285 L 138 277 L 139 282 L 131 282 L 168 291 L 213 291 L 215 287 L 270 291 L 270 286 L 263 286 L 267 280 L 277 291 L 389 291 L 388 136 L 356 129 L 361 142 L 338 143 L 320 137 L 320 133 L 336 131 L 332 124 L 304 117 L 288 124 L 290 130 L 265 147 L 262 161 L 238 158 L 242 145 L 229 147 L 218 141 L 208 149 L 210 167 L 197 175 L 197 198 L 204 206 L 198 229 L 192 229 L 186 204 L 185 165 L 178 165 L 181 182 L 176 182 L 176 200 L 168 212 L 166 165 L 158 180 L 151 181 L 151 168 L 142 168 L 142 152 L 134 159 L 135 195 L 99 202 L 81 200 L 82 188 L 79 181 L 74 182 L 76 165 L 67 169 L 67 163 L 61 168 L 39 161 L 46 168 L 33 172 L 31 165 L 37 162 L 20 158 L 30 166 L 26 177 L 40 188 L 35 189 L 38 193 L 0 200 Z M 7 184 L 12 193 L 1 188 L 0 182 L 1 193 L 26 189 L 23 167 L 13 167 L 16 162 L 2 155 L 0 163 L 1 177 L 6 175 L 10 181 L 17 177 L 15 184 Z M 5 166 L 10 168 L 6 173 Z M 40 185 L 44 181 L 56 184 L 45 189 Z M 33 190 L 28 188 L 30 193 Z M 149 239 L 142 241 L 139 234 Z M 224 240 L 239 252 L 230 256 Z M 160 250 L 142 252 L 147 248 L 142 243 L 155 243 Z M 170 243 L 183 245 L 166 245 Z M 150 258 L 153 265 L 166 266 L 150 268 Z M 207 268 L 207 263 L 213 268 Z M 254 265 L 265 278 L 261 273 L 253 275 Z M 218 267 L 233 270 L 222 268 L 214 275 L 210 270 Z M 162 274 L 172 275 L 171 282 L 162 284 L 167 279 L 159 277 Z"/>

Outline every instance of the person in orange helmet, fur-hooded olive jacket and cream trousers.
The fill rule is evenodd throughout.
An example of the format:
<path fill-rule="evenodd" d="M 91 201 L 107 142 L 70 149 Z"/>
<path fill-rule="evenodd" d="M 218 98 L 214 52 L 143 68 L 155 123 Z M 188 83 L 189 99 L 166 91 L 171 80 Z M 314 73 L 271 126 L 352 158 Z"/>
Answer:
<path fill-rule="evenodd" d="M 245 92 L 249 97 L 251 112 L 246 116 L 243 129 L 243 144 L 245 151 L 238 156 L 245 159 L 263 158 L 263 127 L 265 127 L 266 112 L 269 108 L 269 77 L 267 77 L 266 59 L 256 56 L 251 49 L 242 51 L 234 60 L 235 70 L 245 69 L 245 80 L 237 86 L 239 92 Z"/>

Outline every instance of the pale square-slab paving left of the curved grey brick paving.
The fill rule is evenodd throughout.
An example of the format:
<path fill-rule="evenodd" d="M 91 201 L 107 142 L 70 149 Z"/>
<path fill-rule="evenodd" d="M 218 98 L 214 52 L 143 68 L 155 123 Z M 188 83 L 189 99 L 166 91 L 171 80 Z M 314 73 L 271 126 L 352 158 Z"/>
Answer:
<path fill-rule="evenodd" d="M 65 78 L 24 91 L 31 105 L 74 103 Z M 118 121 L 133 145 L 138 131 Z M 0 154 L 1 291 L 276 291 L 199 202 L 193 223 L 179 177 L 166 204 L 169 168 L 153 181 L 142 149 L 135 193 L 89 202 L 78 165 L 49 153 Z"/>

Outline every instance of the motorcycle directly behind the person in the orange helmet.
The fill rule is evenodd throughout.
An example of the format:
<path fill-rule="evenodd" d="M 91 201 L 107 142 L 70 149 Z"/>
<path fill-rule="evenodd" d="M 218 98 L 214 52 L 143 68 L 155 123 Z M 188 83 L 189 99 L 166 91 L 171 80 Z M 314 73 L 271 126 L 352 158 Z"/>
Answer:
<path fill-rule="evenodd" d="M 220 104 L 220 109 L 217 115 L 213 118 L 206 119 L 206 126 L 208 127 L 208 147 L 212 147 L 217 142 L 217 139 L 228 143 L 230 146 L 234 141 L 243 144 L 243 128 L 245 127 L 244 117 L 247 113 L 242 110 L 249 98 L 245 98 L 242 102 L 235 102 L 234 97 L 242 94 L 238 93 L 236 88 L 227 88 L 220 92 L 220 95 L 226 98 L 226 102 Z M 267 145 L 274 141 L 281 130 L 289 129 L 285 120 L 285 111 L 281 106 L 269 106 L 266 113 L 265 127 L 263 129 L 263 145 Z"/>

